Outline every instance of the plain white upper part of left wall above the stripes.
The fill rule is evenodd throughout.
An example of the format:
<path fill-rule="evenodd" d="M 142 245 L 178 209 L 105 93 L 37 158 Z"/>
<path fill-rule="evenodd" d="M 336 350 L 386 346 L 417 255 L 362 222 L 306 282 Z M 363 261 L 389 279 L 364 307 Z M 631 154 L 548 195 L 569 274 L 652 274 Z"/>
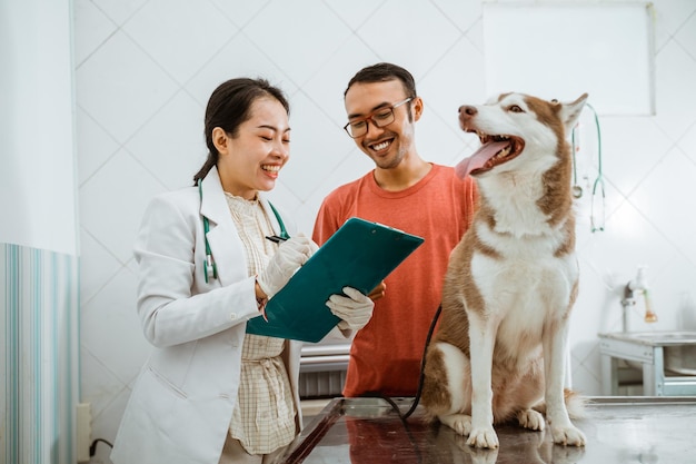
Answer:
<path fill-rule="evenodd" d="M 71 12 L 0 0 L 0 243 L 77 255 Z"/>

